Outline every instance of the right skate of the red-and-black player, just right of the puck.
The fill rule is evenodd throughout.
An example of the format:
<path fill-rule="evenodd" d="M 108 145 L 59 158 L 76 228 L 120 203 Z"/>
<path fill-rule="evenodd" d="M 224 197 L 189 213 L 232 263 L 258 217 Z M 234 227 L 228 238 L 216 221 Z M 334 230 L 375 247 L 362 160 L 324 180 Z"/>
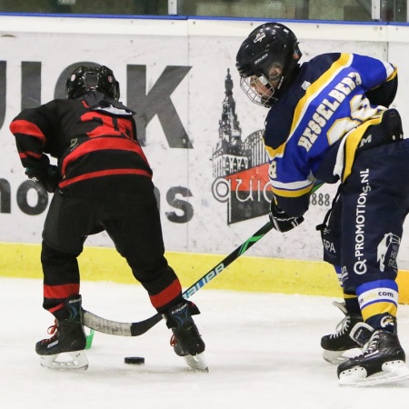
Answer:
<path fill-rule="evenodd" d="M 205 343 L 192 318 L 195 314 L 200 314 L 195 304 L 188 301 L 176 304 L 165 314 L 166 325 L 174 333 L 171 345 L 174 347 L 175 354 L 183 356 L 189 366 L 207 370 L 203 356 Z"/>

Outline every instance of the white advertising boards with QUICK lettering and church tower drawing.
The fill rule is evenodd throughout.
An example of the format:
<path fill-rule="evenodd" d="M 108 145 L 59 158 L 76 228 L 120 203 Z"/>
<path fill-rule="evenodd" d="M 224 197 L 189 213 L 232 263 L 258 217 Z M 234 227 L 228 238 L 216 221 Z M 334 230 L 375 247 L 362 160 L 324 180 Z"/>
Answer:
<path fill-rule="evenodd" d="M 23 108 L 64 98 L 65 79 L 81 64 L 113 69 L 121 101 L 137 113 L 167 251 L 227 254 L 267 223 L 271 195 L 261 140 L 267 111 L 247 99 L 235 70 L 239 45 L 261 22 L 108 19 L 105 25 L 90 19 L 79 25 L 75 18 L 10 18 L 0 25 L 0 241 L 40 243 L 51 199 L 27 181 L 8 125 Z M 399 53 L 391 52 L 385 26 L 288 25 L 303 60 L 324 52 L 382 59 L 389 53 L 399 56 L 399 66 L 409 66 L 409 45 L 399 43 Z M 407 78 L 396 98 L 403 117 Z M 324 186 L 313 195 L 304 224 L 270 233 L 249 254 L 321 260 L 315 225 L 334 189 Z M 409 260 L 407 241 L 403 260 Z M 86 244 L 113 246 L 105 234 Z"/>

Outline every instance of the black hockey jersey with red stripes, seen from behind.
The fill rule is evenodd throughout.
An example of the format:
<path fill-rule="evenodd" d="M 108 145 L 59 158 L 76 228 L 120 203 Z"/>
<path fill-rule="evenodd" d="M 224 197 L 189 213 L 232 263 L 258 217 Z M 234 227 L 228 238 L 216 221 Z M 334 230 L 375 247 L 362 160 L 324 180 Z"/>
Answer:
<path fill-rule="evenodd" d="M 106 177 L 123 175 L 128 182 L 135 175 L 152 177 L 136 138 L 134 114 L 112 98 L 88 93 L 25 109 L 10 130 L 26 168 L 47 166 L 51 155 L 58 159 L 60 189 L 92 193 L 93 186 L 104 187 Z"/>

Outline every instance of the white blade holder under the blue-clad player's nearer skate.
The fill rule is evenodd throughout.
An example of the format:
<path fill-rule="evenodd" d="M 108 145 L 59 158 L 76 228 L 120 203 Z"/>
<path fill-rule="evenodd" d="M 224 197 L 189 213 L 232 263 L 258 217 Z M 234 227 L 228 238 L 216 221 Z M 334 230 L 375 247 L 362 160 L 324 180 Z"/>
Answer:
<path fill-rule="evenodd" d="M 409 380 L 409 368 L 404 361 L 391 361 L 382 365 L 382 372 L 366 377 L 366 370 L 357 367 L 340 374 L 342 386 L 374 386 L 378 384 L 395 384 Z"/>

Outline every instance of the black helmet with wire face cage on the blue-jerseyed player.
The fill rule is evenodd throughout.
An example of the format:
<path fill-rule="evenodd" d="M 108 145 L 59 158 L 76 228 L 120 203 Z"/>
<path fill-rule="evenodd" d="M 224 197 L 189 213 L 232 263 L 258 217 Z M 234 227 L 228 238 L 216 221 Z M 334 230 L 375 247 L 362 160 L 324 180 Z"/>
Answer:
<path fill-rule="evenodd" d="M 240 86 L 255 104 L 269 107 L 278 99 L 301 56 L 297 38 L 288 27 L 280 23 L 260 25 L 244 40 L 236 56 Z M 274 65 L 280 68 L 280 74 L 275 72 L 272 77 Z M 257 94 L 252 82 L 254 78 L 269 87 L 269 95 Z M 278 82 L 278 85 L 273 87 L 271 81 Z"/>

